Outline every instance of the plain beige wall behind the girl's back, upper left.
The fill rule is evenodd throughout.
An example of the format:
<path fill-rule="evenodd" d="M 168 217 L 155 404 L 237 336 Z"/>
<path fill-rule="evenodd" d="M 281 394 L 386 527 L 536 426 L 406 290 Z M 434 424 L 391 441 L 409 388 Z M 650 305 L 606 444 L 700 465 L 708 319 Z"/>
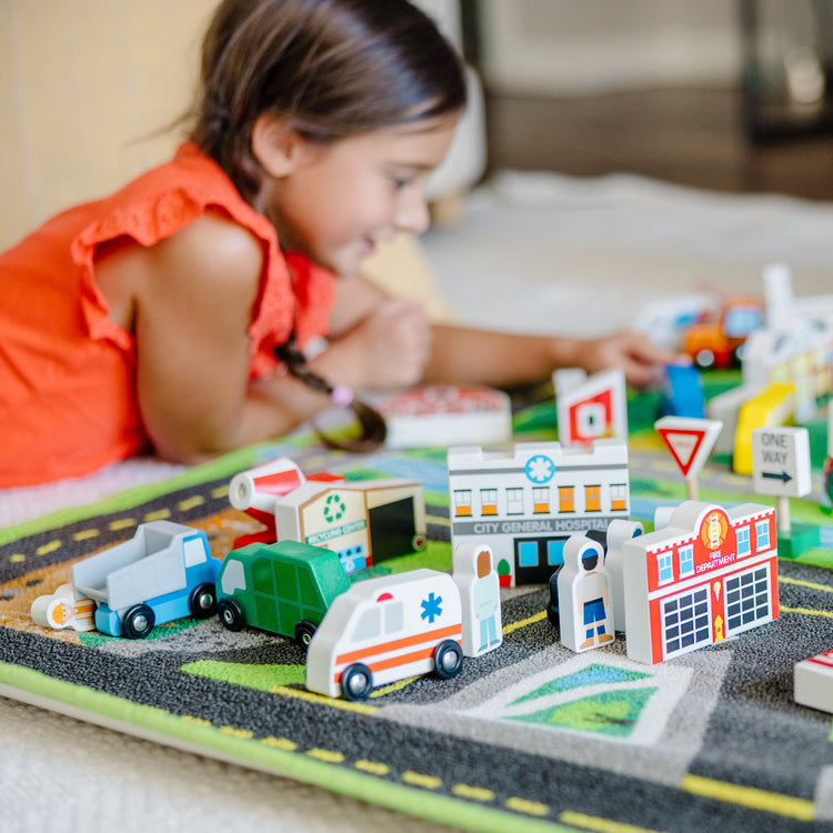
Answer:
<path fill-rule="evenodd" d="M 0 250 L 167 159 L 217 0 L 0 0 Z"/>

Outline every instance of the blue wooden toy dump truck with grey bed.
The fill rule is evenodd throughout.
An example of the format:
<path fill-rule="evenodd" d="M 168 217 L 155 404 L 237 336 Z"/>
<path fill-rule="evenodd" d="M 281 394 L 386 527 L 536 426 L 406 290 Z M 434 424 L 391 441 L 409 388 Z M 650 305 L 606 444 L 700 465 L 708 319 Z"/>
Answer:
<path fill-rule="evenodd" d="M 96 602 L 96 629 L 144 639 L 157 624 L 217 610 L 222 562 L 205 533 L 170 521 L 140 524 L 129 541 L 72 566 L 76 598 Z"/>

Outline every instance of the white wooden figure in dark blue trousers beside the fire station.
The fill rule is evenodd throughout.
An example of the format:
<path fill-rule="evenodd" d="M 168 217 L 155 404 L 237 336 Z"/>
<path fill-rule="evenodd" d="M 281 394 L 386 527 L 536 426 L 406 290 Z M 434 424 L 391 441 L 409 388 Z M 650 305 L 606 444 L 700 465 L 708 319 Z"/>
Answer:
<path fill-rule="evenodd" d="M 559 571 L 559 631 L 561 642 L 581 652 L 613 641 L 610 573 L 598 541 L 571 535 Z"/>

